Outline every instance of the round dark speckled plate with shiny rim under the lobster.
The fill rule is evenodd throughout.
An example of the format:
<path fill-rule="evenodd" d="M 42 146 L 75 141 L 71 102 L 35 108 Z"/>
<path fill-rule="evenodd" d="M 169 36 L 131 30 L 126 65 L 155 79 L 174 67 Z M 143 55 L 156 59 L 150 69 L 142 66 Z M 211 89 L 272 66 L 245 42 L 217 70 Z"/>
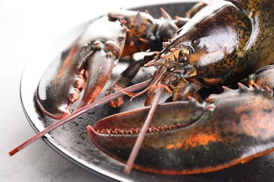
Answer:
<path fill-rule="evenodd" d="M 169 3 L 136 9 L 148 9 L 150 14 L 155 18 L 159 18 L 159 8 L 163 7 L 172 17 L 174 17 L 174 15 L 181 15 L 183 17 L 185 11 L 193 6 L 193 4 L 194 3 Z M 72 41 L 74 41 L 89 23 L 90 22 L 86 22 L 78 25 L 65 32 L 63 36 L 60 36 L 55 42 L 51 43 L 46 50 L 40 49 L 41 52 L 37 52 L 37 57 L 33 57 L 25 68 L 20 87 L 22 108 L 25 111 L 30 125 L 32 125 L 37 132 L 44 130 L 46 126 L 55 121 L 42 115 L 34 102 L 34 92 L 39 83 L 39 79 L 48 64 L 50 64 L 53 59 L 57 59 L 56 56 L 60 57 L 60 52 L 68 48 Z M 47 54 L 45 54 L 45 52 L 47 52 Z M 43 56 L 41 57 L 39 54 Z M 39 61 L 37 61 L 37 58 L 39 58 Z M 112 80 L 115 79 L 125 67 L 126 64 L 119 63 L 118 66 L 115 67 Z M 141 69 L 139 72 L 138 76 L 133 80 L 133 83 L 148 79 L 151 69 Z M 143 106 L 143 97 L 135 99 L 132 103 L 129 103 L 129 100 L 125 99 L 125 102 L 126 104 L 121 109 L 110 109 L 108 106 L 101 106 L 85 113 L 50 134 L 46 134 L 44 141 L 68 160 L 89 170 L 89 172 L 100 175 L 104 179 L 116 179 L 118 181 L 271 181 L 273 179 L 274 154 L 257 158 L 244 165 L 237 165 L 209 174 L 168 176 L 150 174 L 133 169 L 130 175 L 125 175 L 123 173 L 124 165 L 108 157 L 105 153 L 102 153 L 98 148 L 93 146 L 86 133 L 86 125 L 93 125 L 93 123 L 100 118 Z M 226 156 L 223 157 L 226 158 Z"/>

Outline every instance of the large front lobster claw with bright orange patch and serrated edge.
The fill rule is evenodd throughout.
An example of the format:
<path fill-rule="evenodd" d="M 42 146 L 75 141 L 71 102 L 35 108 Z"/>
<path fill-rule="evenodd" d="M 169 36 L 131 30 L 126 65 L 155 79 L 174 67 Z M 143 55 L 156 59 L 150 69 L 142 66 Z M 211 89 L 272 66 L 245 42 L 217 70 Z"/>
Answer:
<path fill-rule="evenodd" d="M 223 94 L 209 96 L 207 101 L 213 103 L 201 105 L 190 99 L 160 105 L 133 167 L 161 174 L 199 174 L 273 152 L 273 92 L 242 84 L 238 90 L 224 89 Z M 125 163 L 147 113 L 145 108 L 100 120 L 87 127 L 89 138 Z"/>

